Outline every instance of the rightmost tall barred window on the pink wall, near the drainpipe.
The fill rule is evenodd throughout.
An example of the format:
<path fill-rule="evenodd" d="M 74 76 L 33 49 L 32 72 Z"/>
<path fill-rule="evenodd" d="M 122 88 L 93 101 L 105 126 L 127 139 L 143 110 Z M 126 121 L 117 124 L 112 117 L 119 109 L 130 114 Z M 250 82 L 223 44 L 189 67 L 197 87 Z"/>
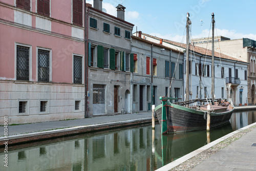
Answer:
<path fill-rule="evenodd" d="M 74 55 L 74 66 L 73 66 L 73 83 L 82 83 L 82 57 Z"/>

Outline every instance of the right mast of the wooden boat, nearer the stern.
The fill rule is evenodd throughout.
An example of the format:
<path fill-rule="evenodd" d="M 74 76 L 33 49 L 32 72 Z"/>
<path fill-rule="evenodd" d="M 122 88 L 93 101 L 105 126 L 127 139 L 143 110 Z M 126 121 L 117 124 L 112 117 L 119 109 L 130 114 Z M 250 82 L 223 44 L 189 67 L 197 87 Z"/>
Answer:
<path fill-rule="evenodd" d="M 214 13 L 211 13 L 211 19 L 212 19 L 212 40 L 211 40 L 211 104 L 214 105 Z"/>

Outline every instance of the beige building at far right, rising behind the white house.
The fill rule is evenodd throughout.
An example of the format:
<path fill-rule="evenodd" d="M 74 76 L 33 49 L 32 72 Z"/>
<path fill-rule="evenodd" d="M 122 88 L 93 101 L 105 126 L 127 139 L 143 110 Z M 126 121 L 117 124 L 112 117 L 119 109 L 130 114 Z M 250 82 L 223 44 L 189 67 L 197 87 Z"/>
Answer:
<path fill-rule="evenodd" d="M 247 68 L 248 81 L 248 104 L 255 104 L 256 85 L 256 41 L 249 38 L 230 40 L 227 37 L 217 36 L 215 40 L 215 51 L 232 56 L 249 63 Z M 211 37 L 192 39 L 195 46 L 211 49 Z"/>

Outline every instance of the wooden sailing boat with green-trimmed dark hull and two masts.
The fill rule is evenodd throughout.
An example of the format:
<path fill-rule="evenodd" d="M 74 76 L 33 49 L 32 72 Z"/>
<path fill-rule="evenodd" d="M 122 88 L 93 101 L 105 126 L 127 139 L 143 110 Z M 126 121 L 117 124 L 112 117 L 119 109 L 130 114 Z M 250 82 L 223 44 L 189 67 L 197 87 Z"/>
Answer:
<path fill-rule="evenodd" d="M 214 98 L 214 13 L 212 15 L 212 66 L 211 66 L 211 99 L 189 100 L 189 73 L 186 72 L 186 101 L 171 103 L 168 100 L 175 98 L 160 97 L 162 104 L 155 108 L 161 133 L 188 132 L 206 129 L 207 112 L 210 118 L 210 127 L 219 126 L 229 122 L 234 106 L 227 100 Z M 189 70 L 189 13 L 187 13 L 186 36 L 186 71 Z M 206 105 L 189 106 L 191 103 L 205 102 Z M 210 117 L 209 117 L 210 116 Z"/>

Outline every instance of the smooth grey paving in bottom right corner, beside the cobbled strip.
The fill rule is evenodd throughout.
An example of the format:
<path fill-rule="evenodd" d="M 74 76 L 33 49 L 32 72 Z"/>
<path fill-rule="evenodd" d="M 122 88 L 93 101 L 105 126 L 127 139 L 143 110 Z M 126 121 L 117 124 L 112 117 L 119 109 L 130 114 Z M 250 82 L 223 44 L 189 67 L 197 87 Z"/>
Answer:
<path fill-rule="evenodd" d="M 256 127 L 191 170 L 256 170 Z"/>

